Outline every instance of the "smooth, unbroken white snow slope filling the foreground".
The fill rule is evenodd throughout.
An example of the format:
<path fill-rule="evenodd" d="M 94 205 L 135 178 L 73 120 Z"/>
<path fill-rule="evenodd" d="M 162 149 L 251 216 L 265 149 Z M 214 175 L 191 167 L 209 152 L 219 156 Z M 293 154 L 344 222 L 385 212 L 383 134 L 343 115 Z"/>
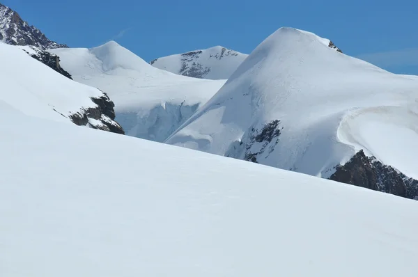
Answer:
<path fill-rule="evenodd" d="M 0 124 L 0 276 L 417 274 L 415 201 L 3 101 Z"/>

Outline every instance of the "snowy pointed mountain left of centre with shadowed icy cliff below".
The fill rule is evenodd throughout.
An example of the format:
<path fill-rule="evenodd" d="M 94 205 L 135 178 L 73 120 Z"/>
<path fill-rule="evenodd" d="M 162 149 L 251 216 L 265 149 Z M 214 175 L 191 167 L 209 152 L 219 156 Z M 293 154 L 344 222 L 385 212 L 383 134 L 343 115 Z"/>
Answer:
<path fill-rule="evenodd" d="M 167 139 L 225 83 L 159 70 L 114 41 L 49 52 L 75 81 L 109 94 L 127 135 L 152 141 Z"/>

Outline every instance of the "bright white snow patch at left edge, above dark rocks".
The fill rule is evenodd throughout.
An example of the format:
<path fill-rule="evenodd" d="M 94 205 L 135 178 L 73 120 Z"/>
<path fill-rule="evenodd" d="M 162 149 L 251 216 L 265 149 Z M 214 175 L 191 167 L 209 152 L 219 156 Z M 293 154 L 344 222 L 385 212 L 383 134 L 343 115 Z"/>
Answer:
<path fill-rule="evenodd" d="M 22 51 L 30 47 L 0 42 L 0 100 L 26 115 L 70 122 L 69 116 L 95 107 L 96 88 L 63 77 Z"/>

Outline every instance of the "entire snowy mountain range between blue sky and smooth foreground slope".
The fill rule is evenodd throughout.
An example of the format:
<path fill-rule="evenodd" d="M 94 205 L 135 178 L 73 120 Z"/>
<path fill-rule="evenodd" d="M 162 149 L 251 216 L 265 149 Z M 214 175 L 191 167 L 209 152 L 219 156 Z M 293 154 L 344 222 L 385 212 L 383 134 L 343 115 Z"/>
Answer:
<path fill-rule="evenodd" d="M 0 4 L 0 40 L 14 57 L 2 84 L 28 84 L 1 100 L 23 113 L 418 199 L 418 77 L 314 33 L 282 27 L 251 54 L 215 46 L 148 63 L 114 41 L 54 42 Z M 32 68 L 45 74 L 26 78 Z"/>

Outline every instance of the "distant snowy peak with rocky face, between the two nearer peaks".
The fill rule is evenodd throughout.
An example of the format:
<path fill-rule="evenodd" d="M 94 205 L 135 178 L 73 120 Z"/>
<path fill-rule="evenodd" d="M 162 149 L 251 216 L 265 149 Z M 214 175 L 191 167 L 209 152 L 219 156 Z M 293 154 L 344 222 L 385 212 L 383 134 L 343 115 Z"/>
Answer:
<path fill-rule="evenodd" d="M 156 58 L 150 64 L 155 68 L 179 75 L 220 80 L 228 79 L 247 56 L 247 54 L 222 46 L 215 46 L 209 49 Z"/>

